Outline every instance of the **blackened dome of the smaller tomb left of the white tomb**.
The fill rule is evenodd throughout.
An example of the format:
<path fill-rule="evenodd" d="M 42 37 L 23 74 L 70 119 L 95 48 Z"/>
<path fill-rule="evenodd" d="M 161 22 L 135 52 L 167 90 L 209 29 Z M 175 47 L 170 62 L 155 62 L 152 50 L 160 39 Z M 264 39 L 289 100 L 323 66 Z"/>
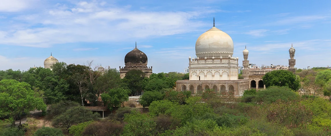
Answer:
<path fill-rule="evenodd" d="M 147 64 L 147 56 L 144 52 L 134 48 L 132 51 L 127 53 L 124 58 L 124 63 L 133 63 L 133 64 Z"/>

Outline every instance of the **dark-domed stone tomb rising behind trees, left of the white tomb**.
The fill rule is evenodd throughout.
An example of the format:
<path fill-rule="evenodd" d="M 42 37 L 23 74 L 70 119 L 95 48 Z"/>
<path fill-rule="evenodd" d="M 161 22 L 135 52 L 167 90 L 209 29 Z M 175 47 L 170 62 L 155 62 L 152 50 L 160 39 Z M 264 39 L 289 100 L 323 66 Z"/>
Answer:
<path fill-rule="evenodd" d="M 120 77 L 124 78 L 126 72 L 130 70 L 141 70 L 149 77 L 153 72 L 153 67 L 147 67 L 147 55 L 136 47 L 128 52 L 124 58 L 125 67 L 119 66 Z"/>

